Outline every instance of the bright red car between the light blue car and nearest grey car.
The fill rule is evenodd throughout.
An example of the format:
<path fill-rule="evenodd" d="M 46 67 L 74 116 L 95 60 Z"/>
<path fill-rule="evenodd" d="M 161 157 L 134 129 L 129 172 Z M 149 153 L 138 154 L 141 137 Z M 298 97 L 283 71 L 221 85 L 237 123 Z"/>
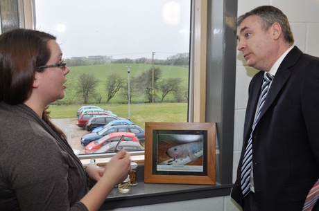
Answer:
<path fill-rule="evenodd" d="M 84 148 L 84 152 L 91 153 L 93 151 L 100 149 L 104 145 L 107 145 L 108 143 L 111 143 L 111 142 L 117 143 L 117 141 L 122 135 L 124 135 L 124 138 L 121 141 L 133 141 L 133 142 L 139 143 L 139 139 L 135 136 L 134 133 L 117 132 L 117 133 L 107 134 L 106 136 L 103 136 L 102 138 L 92 141 Z"/>

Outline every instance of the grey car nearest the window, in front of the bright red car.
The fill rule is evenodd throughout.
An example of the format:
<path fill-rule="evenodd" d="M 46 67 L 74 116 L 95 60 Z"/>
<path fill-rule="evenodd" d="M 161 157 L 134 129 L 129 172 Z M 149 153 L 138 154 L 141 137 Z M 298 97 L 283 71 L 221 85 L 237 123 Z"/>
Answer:
<path fill-rule="evenodd" d="M 117 145 L 116 141 L 113 141 L 111 143 L 107 143 L 106 145 L 103 145 L 100 149 L 93 151 L 91 153 L 112 153 L 114 152 L 114 147 Z M 139 150 L 144 150 L 144 147 L 135 141 L 121 141 L 119 143 L 119 147 L 121 149 L 125 149 L 128 152 L 132 151 L 139 151 Z"/>

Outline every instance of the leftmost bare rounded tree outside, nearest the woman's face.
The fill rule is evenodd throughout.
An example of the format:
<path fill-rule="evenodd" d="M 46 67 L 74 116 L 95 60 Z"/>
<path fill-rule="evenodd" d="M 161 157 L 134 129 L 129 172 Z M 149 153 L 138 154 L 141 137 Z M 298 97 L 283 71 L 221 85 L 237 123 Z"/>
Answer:
<path fill-rule="evenodd" d="M 94 97 L 97 83 L 98 80 L 94 77 L 94 75 L 83 73 L 79 76 L 77 93 L 82 95 L 84 104 L 89 102 L 90 97 Z"/>

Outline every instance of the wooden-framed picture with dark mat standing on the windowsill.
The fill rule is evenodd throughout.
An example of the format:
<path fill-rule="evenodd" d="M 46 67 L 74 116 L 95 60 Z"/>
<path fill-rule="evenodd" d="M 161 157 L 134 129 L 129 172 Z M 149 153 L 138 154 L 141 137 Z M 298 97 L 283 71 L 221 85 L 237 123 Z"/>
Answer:
<path fill-rule="evenodd" d="M 213 122 L 145 122 L 145 183 L 215 185 Z"/>

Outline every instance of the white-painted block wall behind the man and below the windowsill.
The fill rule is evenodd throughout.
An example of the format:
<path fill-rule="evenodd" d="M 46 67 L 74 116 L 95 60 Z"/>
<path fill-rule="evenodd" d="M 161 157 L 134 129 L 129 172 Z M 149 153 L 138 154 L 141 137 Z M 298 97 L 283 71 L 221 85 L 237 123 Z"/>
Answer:
<path fill-rule="evenodd" d="M 243 13 L 248 10 L 262 5 L 272 5 L 282 10 L 290 21 L 295 37 L 295 45 L 304 51 L 304 53 L 319 57 L 319 42 L 317 39 L 319 35 L 319 0 L 239 0 L 238 15 L 243 15 Z M 248 100 L 248 84 L 255 73 L 257 73 L 257 71 L 254 68 L 245 66 L 245 59 L 243 59 L 241 53 L 237 51 L 233 180 L 235 180 L 236 169 L 241 154 L 243 122 Z M 117 211 L 124 210 L 239 211 L 240 209 L 234 205 L 230 196 L 225 196 L 117 209 Z"/>

